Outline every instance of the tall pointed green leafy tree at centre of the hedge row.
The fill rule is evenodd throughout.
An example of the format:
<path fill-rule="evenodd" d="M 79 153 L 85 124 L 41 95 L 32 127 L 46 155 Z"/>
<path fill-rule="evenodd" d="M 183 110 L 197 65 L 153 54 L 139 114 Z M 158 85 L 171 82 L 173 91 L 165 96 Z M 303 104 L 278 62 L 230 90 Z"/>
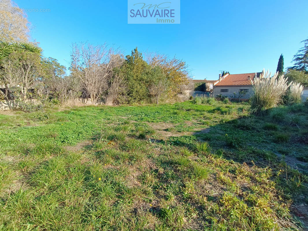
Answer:
<path fill-rule="evenodd" d="M 127 86 L 128 103 L 139 102 L 148 97 L 148 73 L 151 67 L 143 60 L 138 47 L 132 50 L 131 55 L 126 56 L 122 69 Z"/>

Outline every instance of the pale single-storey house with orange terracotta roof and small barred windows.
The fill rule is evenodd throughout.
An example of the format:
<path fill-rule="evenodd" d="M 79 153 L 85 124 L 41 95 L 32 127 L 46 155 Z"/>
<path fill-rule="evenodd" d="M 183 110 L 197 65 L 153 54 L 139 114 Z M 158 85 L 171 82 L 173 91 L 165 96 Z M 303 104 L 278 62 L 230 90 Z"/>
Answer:
<path fill-rule="evenodd" d="M 244 74 L 226 74 L 219 75 L 219 79 L 213 83 L 213 96 L 219 94 L 234 97 L 234 92 L 238 95 L 239 91 L 247 92 L 242 99 L 249 99 L 253 95 L 252 81 L 256 73 Z M 262 72 L 257 72 L 257 77 L 260 77 Z"/>

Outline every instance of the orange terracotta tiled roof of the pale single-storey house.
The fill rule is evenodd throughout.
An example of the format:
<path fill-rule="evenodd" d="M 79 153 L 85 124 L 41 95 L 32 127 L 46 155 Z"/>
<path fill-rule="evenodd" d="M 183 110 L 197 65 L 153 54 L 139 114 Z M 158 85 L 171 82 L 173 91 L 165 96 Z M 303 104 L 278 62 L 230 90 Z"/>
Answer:
<path fill-rule="evenodd" d="M 262 72 L 257 72 L 257 77 L 260 77 Z M 234 75 L 224 75 L 225 77 L 221 79 L 220 82 L 217 82 L 215 86 L 247 86 L 252 85 L 251 81 L 248 80 L 248 76 L 250 79 L 253 79 L 255 73 L 245 73 L 245 74 L 234 74 Z"/>

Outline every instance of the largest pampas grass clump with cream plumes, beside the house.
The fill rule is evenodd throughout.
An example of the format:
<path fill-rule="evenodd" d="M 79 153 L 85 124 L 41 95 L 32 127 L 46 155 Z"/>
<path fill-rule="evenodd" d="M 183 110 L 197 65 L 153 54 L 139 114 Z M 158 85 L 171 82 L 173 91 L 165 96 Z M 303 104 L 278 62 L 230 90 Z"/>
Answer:
<path fill-rule="evenodd" d="M 278 77 L 278 72 L 271 77 L 271 73 L 263 69 L 263 76 L 255 76 L 251 98 L 251 111 L 255 114 L 265 114 L 267 109 L 277 106 L 282 102 L 289 85 L 284 75 Z"/>

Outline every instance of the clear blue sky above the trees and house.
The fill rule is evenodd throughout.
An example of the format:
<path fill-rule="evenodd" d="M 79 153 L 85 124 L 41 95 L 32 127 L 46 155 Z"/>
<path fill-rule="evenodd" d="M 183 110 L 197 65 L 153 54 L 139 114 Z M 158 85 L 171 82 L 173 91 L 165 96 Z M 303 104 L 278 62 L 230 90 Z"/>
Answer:
<path fill-rule="evenodd" d="M 71 43 L 107 42 L 120 46 L 125 55 L 136 46 L 176 55 L 195 79 L 218 79 L 220 70 L 274 72 L 281 53 L 289 67 L 300 41 L 308 37 L 307 0 L 182 0 L 181 23 L 176 25 L 128 24 L 125 0 L 15 2 L 20 8 L 50 9 L 27 13 L 34 26 L 31 35 L 46 57 L 67 67 Z"/>

